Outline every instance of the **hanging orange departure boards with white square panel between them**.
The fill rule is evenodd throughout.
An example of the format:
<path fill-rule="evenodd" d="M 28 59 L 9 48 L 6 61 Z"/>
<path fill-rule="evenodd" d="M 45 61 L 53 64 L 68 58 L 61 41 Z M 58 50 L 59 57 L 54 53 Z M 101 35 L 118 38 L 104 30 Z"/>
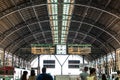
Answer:
<path fill-rule="evenodd" d="M 90 44 L 32 44 L 33 54 L 72 54 L 87 55 L 91 53 Z"/>

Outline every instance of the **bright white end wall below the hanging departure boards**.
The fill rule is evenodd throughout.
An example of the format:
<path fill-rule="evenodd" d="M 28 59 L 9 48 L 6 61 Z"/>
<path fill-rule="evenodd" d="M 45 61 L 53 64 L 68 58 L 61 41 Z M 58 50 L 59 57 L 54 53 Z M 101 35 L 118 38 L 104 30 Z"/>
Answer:
<path fill-rule="evenodd" d="M 56 57 L 55 57 L 56 56 Z M 62 74 L 63 75 L 79 75 L 81 73 L 80 69 L 71 69 L 68 68 L 68 60 L 80 60 L 80 64 L 83 63 L 83 59 L 81 56 L 78 55 L 41 55 L 40 56 L 40 70 L 43 67 L 43 60 L 55 60 L 55 68 L 48 68 L 47 69 L 47 73 L 50 73 L 52 75 L 61 75 L 61 66 L 64 63 L 64 61 L 66 60 L 66 58 L 68 57 L 68 59 L 66 60 L 66 62 L 63 65 L 62 68 Z M 57 59 L 59 60 L 59 62 L 57 61 Z M 85 63 L 87 63 L 87 61 L 85 61 Z M 38 66 L 38 58 L 36 58 L 32 63 L 31 63 L 32 67 L 37 67 Z"/>

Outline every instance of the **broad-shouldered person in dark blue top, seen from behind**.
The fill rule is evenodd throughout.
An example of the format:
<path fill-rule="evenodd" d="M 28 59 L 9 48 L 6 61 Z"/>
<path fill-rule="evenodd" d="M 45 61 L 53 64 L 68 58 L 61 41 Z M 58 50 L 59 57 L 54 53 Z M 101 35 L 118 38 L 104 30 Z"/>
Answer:
<path fill-rule="evenodd" d="M 53 80 L 53 77 L 50 74 L 47 74 L 46 67 L 43 67 L 42 74 L 39 74 L 36 80 Z"/>

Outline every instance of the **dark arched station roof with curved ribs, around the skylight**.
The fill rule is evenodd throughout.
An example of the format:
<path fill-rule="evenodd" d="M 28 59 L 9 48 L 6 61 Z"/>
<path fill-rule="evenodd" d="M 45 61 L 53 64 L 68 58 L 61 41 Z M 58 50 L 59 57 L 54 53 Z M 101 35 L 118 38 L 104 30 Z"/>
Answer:
<path fill-rule="evenodd" d="M 51 0 L 48 0 L 51 1 Z M 58 26 L 62 23 L 64 4 L 72 5 L 67 44 L 91 44 L 86 60 L 95 60 L 120 47 L 120 0 L 1 0 L 0 47 L 32 61 L 31 44 L 53 44 L 53 30 L 48 5 L 58 6 Z M 73 1 L 73 0 L 69 0 Z M 60 27 L 58 27 L 60 29 Z M 60 29 L 62 30 L 62 29 Z M 60 33 L 58 33 L 60 34 Z M 24 52 L 20 52 L 22 48 Z"/>

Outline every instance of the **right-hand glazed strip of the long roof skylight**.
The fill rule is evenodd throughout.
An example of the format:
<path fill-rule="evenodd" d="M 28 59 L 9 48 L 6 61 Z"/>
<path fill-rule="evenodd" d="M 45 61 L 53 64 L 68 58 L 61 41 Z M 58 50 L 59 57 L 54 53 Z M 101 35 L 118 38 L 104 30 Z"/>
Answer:
<path fill-rule="evenodd" d="M 62 17 L 62 33 L 61 33 L 61 43 L 66 43 L 66 37 L 68 34 L 68 29 L 70 25 L 70 19 L 73 11 L 74 0 L 64 0 L 63 4 L 63 17 Z M 72 7 L 71 7 L 72 6 Z"/>

